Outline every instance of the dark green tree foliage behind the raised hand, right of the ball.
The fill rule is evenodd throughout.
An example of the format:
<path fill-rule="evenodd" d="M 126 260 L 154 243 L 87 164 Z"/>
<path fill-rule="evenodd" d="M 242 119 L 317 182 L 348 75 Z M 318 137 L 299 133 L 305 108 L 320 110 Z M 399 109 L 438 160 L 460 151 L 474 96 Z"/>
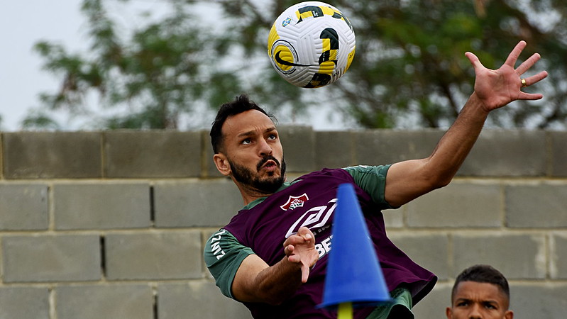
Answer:
<path fill-rule="evenodd" d="M 294 1 L 271 1 L 268 13 L 255 1 L 221 1 L 233 18 L 252 16 L 255 28 L 268 29 L 275 16 Z M 345 77 L 329 88 L 322 104 L 332 103 L 364 128 L 447 127 L 473 90 L 474 73 L 464 52 L 475 52 L 487 67 L 498 68 L 519 40 L 543 60 L 549 79 L 532 91 L 540 102 L 514 102 L 495 112 L 497 127 L 565 128 L 567 115 L 567 10 L 561 1 L 505 0 L 336 0 L 356 31 L 356 55 Z M 238 9 L 236 9 L 238 8 Z M 231 14 L 234 12 L 235 14 Z M 258 23 L 261 21 L 261 23 Z M 252 26 L 251 26 L 252 27 Z M 246 47 L 265 47 L 254 29 L 238 28 Z M 561 67 L 559 67 L 561 66 Z M 304 91 L 300 93 L 304 94 Z M 269 96 L 268 96 L 269 98 Z M 303 99 L 314 104 L 314 99 Z M 315 107 L 321 107 L 315 106 Z"/>

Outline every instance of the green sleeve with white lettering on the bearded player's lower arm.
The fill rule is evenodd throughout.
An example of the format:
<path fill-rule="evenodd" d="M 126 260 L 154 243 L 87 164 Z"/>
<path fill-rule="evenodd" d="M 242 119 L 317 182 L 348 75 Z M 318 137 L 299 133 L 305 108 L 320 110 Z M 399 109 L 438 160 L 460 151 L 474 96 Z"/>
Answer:
<path fill-rule="evenodd" d="M 221 229 L 207 240 L 204 259 L 209 272 L 224 296 L 232 296 L 232 281 L 244 258 L 254 254 L 250 247 L 241 245 L 228 230 Z"/>

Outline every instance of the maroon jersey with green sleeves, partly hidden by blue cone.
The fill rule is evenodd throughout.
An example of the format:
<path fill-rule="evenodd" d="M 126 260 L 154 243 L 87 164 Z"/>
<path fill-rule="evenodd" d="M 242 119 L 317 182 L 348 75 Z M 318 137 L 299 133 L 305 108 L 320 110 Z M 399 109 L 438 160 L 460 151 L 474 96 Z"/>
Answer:
<path fill-rule="evenodd" d="M 244 303 L 255 318 L 336 318 L 336 313 L 316 308 L 322 302 L 326 264 L 331 250 L 331 225 L 338 185 L 355 187 L 360 208 L 378 254 L 388 289 L 399 286 L 420 301 L 436 282 L 436 276 L 409 259 L 386 236 L 382 209 L 392 208 L 384 198 L 385 177 L 390 166 L 323 169 L 285 183 L 275 194 L 260 198 L 234 216 L 209 238 L 205 262 L 216 284 L 233 298 L 231 284 L 238 266 L 248 254 L 257 254 L 272 266 L 285 257 L 283 242 L 306 226 L 315 235 L 319 261 L 306 284 L 279 306 Z M 344 269 L 348 272 L 348 269 Z M 374 308 L 355 308 L 354 318 L 366 318 Z"/>

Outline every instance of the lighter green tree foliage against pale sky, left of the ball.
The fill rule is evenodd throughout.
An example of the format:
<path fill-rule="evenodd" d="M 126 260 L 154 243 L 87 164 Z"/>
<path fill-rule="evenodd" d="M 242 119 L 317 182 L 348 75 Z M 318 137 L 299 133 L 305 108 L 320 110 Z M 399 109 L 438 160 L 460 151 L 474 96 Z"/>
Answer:
<path fill-rule="evenodd" d="M 238 91 L 239 82 L 233 72 L 216 64 L 222 50 L 210 41 L 213 36 L 207 28 L 194 23 L 192 11 L 172 5 L 170 16 L 133 30 L 131 38 L 122 40 L 104 1 L 84 0 L 82 12 L 92 43 L 87 54 L 72 55 L 47 41 L 35 45 L 45 69 L 62 78 L 59 91 L 41 96 L 45 105 L 85 114 L 89 110 L 84 99 L 95 92 L 101 106 L 126 106 L 124 114 L 104 118 L 103 127 L 178 128 L 182 114 L 198 116 L 199 103 L 232 99 L 228 93 Z M 40 114 L 29 116 L 24 124 L 44 123 L 45 114 Z"/>

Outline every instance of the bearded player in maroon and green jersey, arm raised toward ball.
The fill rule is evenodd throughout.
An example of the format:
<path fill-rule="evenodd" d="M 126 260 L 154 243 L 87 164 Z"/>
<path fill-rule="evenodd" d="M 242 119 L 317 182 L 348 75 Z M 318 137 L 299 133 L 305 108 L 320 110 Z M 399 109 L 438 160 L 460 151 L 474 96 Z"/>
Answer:
<path fill-rule="evenodd" d="M 272 118 L 247 96 L 221 106 L 211 128 L 213 159 L 219 172 L 236 184 L 245 205 L 205 246 L 205 262 L 221 292 L 244 303 L 255 318 L 336 317 L 316 306 L 324 291 L 336 189 L 351 183 L 395 301 L 387 307 L 357 307 L 354 318 L 413 318 L 412 306 L 437 278 L 387 238 L 381 210 L 446 186 L 490 111 L 515 100 L 541 99 L 542 94 L 522 91 L 547 76 L 542 71 L 522 78 L 539 54 L 514 68 L 525 46 L 520 41 L 495 70 L 466 52 L 475 70 L 473 94 L 423 159 L 323 169 L 286 181 L 284 152 Z"/>

